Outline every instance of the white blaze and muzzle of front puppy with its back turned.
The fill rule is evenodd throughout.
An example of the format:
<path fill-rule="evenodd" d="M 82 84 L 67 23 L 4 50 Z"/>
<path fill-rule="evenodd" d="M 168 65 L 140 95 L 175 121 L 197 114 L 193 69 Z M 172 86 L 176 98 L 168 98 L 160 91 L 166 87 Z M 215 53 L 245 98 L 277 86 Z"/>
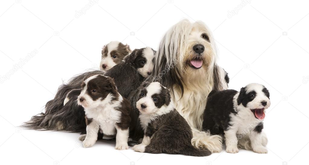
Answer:
<path fill-rule="evenodd" d="M 155 106 L 155 102 L 151 96 L 156 93 L 161 93 L 161 85 L 159 82 L 153 82 L 146 87 L 146 90 L 146 96 L 136 102 L 136 107 L 141 113 L 155 113 L 159 108 Z M 147 107 L 142 109 L 141 104 L 145 104 Z"/>

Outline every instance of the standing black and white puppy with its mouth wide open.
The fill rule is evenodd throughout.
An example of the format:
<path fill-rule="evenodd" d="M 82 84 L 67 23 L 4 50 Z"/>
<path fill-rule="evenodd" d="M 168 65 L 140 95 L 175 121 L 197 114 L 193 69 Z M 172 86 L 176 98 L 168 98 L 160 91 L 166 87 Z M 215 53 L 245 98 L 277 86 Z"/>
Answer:
<path fill-rule="evenodd" d="M 237 153 L 238 139 L 248 136 L 254 152 L 267 153 L 262 129 L 269 106 L 269 91 L 264 85 L 248 84 L 240 92 L 213 90 L 207 98 L 203 130 L 223 135 L 226 152 Z"/>

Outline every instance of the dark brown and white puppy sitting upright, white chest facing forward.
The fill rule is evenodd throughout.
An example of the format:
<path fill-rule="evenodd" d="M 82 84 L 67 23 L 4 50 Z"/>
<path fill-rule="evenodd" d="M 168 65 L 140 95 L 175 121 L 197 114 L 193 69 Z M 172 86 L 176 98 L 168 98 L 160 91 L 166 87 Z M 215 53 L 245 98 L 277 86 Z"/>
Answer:
<path fill-rule="evenodd" d="M 134 128 L 131 119 L 135 113 L 129 101 L 117 92 L 112 78 L 94 75 L 83 81 L 82 88 L 77 100 L 86 114 L 87 135 L 83 146 L 93 146 L 100 132 L 116 134 L 115 149 L 128 149 L 129 127 Z"/>

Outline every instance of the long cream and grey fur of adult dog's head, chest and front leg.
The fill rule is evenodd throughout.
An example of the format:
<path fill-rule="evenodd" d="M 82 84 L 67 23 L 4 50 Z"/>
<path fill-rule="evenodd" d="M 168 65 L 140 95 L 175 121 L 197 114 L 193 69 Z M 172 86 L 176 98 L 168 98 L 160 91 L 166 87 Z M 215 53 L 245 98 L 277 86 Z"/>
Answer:
<path fill-rule="evenodd" d="M 193 50 L 197 44 L 205 47 L 200 55 Z M 227 89 L 228 76 L 217 65 L 217 58 L 216 45 L 209 28 L 203 22 L 182 20 L 163 36 L 154 70 L 147 79 L 150 82 L 159 81 L 171 89 L 176 110 L 193 130 L 192 144 L 212 152 L 221 151 L 222 138 L 202 132 L 201 128 L 207 95 L 213 89 Z M 188 64 L 193 59 L 203 61 L 201 68 L 192 68 Z"/>

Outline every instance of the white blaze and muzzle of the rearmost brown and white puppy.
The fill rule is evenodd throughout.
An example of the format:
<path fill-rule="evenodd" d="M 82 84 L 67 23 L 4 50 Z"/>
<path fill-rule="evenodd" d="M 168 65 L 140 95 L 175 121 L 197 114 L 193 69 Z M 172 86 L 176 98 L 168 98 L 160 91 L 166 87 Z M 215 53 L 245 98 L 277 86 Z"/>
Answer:
<path fill-rule="evenodd" d="M 100 69 L 104 70 L 104 71 L 108 71 L 110 68 L 112 68 L 113 66 L 116 65 L 116 63 L 113 60 L 113 57 L 110 55 L 110 52 L 112 52 L 112 50 L 116 49 L 118 47 L 120 42 L 118 41 L 112 41 L 110 43 L 108 43 L 107 46 L 107 56 L 103 56 L 103 58 L 101 59 L 100 62 Z M 106 65 L 106 68 L 103 68 L 103 64 Z"/>

